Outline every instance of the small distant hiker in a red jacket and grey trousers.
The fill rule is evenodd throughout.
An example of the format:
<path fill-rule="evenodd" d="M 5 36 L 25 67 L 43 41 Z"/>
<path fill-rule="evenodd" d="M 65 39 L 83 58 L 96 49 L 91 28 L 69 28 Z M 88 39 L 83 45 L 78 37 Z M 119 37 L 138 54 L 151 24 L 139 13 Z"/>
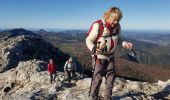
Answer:
<path fill-rule="evenodd" d="M 56 64 L 54 63 L 53 59 L 49 60 L 49 64 L 48 64 L 48 72 L 50 74 L 50 83 L 52 84 L 52 82 L 55 82 L 55 78 L 57 76 L 56 74 Z"/>

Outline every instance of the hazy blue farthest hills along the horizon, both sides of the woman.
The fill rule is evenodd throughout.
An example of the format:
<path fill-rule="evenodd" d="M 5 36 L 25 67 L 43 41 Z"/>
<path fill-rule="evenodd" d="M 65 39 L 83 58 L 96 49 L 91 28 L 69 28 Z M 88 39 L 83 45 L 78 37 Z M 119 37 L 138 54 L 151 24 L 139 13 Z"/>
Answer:
<path fill-rule="evenodd" d="M 51 33 L 56 34 L 60 37 L 63 37 L 62 35 L 66 35 L 65 33 L 69 34 L 71 36 L 71 39 L 75 37 L 75 35 L 79 34 L 78 36 L 84 37 L 87 30 L 60 30 L 57 32 L 53 31 L 46 31 L 46 30 L 39 30 L 38 33 Z M 37 33 L 37 31 L 36 31 Z M 67 35 L 66 35 L 67 36 Z M 170 31 L 122 31 L 122 36 L 126 38 L 131 38 L 137 41 L 144 41 L 159 45 L 170 45 Z M 77 38 L 77 37 L 76 37 Z M 82 38 L 81 38 L 82 39 Z M 79 39 L 79 40 L 81 40 Z"/>

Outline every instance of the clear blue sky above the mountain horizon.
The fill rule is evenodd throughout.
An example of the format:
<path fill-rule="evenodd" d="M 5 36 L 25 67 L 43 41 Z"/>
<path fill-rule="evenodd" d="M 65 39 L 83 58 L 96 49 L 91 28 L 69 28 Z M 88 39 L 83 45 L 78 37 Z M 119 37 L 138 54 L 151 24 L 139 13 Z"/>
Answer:
<path fill-rule="evenodd" d="M 122 29 L 170 30 L 170 0 L 1 0 L 0 28 L 88 29 L 110 7 Z"/>

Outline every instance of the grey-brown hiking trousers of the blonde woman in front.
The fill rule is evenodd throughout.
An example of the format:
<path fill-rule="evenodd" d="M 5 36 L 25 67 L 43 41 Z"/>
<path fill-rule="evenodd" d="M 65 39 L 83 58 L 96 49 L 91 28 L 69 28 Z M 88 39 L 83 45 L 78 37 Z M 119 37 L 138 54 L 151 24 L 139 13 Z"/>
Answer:
<path fill-rule="evenodd" d="M 97 100 L 98 98 L 100 85 L 102 83 L 102 76 L 105 76 L 104 100 L 111 100 L 113 83 L 115 79 L 114 58 L 109 61 L 101 59 L 96 60 L 90 90 L 90 96 L 94 98 L 94 100 Z"/>

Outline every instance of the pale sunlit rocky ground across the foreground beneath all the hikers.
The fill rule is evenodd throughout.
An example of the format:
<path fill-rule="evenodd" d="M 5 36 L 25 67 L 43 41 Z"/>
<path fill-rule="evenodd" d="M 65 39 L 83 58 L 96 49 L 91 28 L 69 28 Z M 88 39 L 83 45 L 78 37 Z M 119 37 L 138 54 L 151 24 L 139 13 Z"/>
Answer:
<path fill-rule="evenodd" d="M 71 83 L 64 80 L 64 73 L 57 72 L 56 82 L 50 84 L 47 71 L 38 72 L 40 60 L 20 62 L 0 76 L 1 100 L 89 100 L 88 91 L 91 78 L 75 79 Z M 78 74 L 78 73 L 77 73 Z M 113 100 L 157 100 L 170 99 L 170 80 L 157 83 L 130 81 L 116 78 Z M 99 97 L 104 96 L 104 80 Z"/>

